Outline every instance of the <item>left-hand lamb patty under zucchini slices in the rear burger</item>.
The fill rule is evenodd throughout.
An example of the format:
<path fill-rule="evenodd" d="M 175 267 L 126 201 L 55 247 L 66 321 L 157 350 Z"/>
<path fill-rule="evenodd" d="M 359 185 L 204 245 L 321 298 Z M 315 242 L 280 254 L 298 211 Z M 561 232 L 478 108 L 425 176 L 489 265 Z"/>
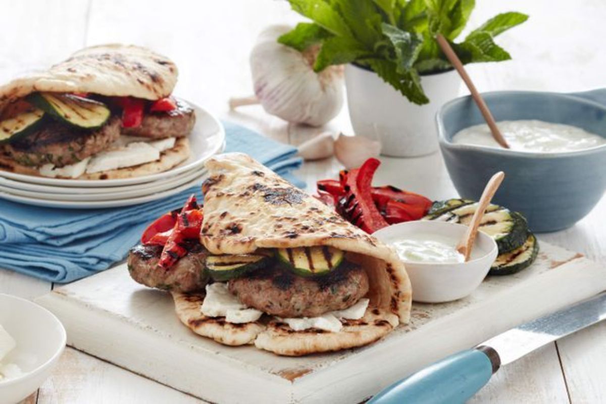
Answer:
<path fill-rule="evenodd" d="M 78 161 L 107 149 L 120 136 L 120 118 L 110 118 L 101 129 L 79 129 L 49 120 L 42 129 L 3 145 L 0 152 L 24 166 L 51 163 L 57 167 Z"/>

